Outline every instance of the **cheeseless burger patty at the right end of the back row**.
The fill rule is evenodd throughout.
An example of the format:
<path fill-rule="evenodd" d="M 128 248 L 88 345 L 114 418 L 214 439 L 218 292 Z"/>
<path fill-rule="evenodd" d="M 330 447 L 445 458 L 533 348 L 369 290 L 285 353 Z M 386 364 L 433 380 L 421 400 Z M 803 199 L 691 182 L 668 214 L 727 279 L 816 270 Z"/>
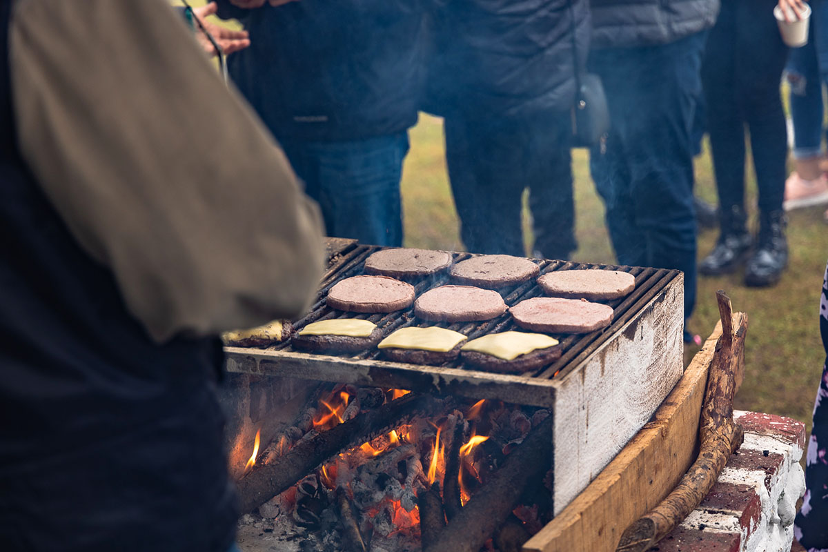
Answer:
<path fill-rule="evenodd" d="M 628 272 L 602 270 L 554 271 L 537 279 L 538 286 L 553 297 L 610 300 L 627 295 L 635 287 Z"/>

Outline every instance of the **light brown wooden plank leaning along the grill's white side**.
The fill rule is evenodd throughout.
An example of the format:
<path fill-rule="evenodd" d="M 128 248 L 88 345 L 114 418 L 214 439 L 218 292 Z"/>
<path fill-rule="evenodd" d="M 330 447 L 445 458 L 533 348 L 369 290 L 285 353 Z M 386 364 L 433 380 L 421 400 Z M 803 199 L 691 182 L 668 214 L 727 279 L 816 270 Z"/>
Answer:
<path fill-rule="evenodd" d="M 647 425 L 524 552 L 611 552 L 621 532 L 656 506 L 695 459 L 707 371 L 718 324 Z"/>

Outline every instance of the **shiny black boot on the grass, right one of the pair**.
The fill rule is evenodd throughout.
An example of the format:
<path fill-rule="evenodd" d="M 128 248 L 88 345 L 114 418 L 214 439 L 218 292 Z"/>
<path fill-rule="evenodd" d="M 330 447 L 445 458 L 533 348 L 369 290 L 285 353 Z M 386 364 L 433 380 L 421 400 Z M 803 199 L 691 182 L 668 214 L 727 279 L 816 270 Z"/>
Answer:
<path fill-rule="evenodd" d="M 787 266 L 787 217 L 782 210 L 763 213 L 759 218 L 757 247 L 744 271 L 748 286 L 773 286 Z"/>

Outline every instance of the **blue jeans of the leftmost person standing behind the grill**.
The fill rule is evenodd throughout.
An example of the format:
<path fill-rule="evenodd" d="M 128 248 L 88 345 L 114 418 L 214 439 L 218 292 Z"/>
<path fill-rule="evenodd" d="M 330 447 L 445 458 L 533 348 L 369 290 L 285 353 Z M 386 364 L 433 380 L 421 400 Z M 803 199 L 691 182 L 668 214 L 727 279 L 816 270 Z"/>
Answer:
<path fill-rule="evenodd" d="M 408 133 L 354 142 L 280 141 L 329 236 L 402 245 L 402 161 Z"/>

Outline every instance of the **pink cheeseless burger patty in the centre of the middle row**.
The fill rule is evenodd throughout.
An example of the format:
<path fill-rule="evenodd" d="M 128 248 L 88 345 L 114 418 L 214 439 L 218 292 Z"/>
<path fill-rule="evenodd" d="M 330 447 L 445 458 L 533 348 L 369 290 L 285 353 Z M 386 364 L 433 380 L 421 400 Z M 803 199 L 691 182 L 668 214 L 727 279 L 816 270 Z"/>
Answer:
<path fill-rule="evenodd" d="M 420 295 L 414 314 L 436 322 L 479 322 L 506 312 L 497 291 L 472 286 L 440 286 Z"/>

